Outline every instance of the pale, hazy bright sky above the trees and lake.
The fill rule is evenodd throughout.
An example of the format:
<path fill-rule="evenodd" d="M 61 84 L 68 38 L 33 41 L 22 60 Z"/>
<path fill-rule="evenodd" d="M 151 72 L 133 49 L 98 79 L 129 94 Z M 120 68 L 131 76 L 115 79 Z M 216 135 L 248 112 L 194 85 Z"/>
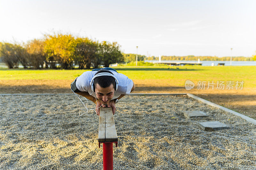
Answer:
<path fill-rule="evenodd" d="M 0 0 L 0 41 L 60 32 L 116 41 L 124 53 L 138 46 L 146 56 L 251 57 L 255 6 L 255 0 Z"/>

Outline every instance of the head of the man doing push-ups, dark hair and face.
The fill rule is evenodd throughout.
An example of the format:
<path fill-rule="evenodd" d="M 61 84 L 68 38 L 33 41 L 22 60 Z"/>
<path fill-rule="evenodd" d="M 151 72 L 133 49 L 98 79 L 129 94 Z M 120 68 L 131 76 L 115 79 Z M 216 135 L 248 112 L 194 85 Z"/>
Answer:
<path fill-rule="evenodd" d="M 113 74 L 108 70 L 101 69 L 95 75 L 105 72 Z M 114 97 L 116 84 L 114 77 L 108 75 L 99 76 L 94 79 L 93 84 L 95 86 L 96 97 L 100 99 L 101 103 L 107 104 Z"/>

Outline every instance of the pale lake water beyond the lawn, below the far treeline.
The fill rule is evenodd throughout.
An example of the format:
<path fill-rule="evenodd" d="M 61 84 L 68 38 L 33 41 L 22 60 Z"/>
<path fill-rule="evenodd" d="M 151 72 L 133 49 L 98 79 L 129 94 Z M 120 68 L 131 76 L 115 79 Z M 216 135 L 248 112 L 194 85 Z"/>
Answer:
<path fill-rule="evenodd" d="M 158 62 L 159 60 L 145 60 L 145 62 Z M 162 60 L 164 62 L 198 62 L 198 61 L 185 61 L 185 60 Z M 218 63 L 225 63 L 225 66 L 230 66 L 230 61 L 200 61 L 202 63 L 202 66 L 212 66 L 212 63 L 214 63 L 214 66 L 217 66 Z M 256 61 L 232 61 L 232 66 L 256 66 Z"/>

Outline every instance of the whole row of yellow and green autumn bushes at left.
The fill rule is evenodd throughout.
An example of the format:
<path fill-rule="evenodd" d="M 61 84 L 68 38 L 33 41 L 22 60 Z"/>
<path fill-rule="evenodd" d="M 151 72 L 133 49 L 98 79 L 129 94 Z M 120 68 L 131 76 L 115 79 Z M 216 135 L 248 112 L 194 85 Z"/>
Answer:
<path fill-rule="evenodd" d="M 9 68 L 62 68 L 79 69 L 123 62 L 120 46 L 107 41 L 98 42 L 72 35 L 45 35 L 44 39 L 34 39 L 27 44 L 0 43 L 1 60 Z"/>

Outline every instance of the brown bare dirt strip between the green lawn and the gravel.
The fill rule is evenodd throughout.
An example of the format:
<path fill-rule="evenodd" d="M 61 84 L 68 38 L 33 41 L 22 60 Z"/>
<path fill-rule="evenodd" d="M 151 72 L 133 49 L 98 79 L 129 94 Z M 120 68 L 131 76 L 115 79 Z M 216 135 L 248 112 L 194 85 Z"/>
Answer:
<path fill-rule="evenodd" d="M 1 80 L 0 93 L 71 93 L 73 80 Z M 242 90 L 186 90 L 173 82 L 134 80 L 134 93 L 192 93 L 256 119 L 256 88 Z M 204 94 L 204 95 L 201 95 Z"/>

